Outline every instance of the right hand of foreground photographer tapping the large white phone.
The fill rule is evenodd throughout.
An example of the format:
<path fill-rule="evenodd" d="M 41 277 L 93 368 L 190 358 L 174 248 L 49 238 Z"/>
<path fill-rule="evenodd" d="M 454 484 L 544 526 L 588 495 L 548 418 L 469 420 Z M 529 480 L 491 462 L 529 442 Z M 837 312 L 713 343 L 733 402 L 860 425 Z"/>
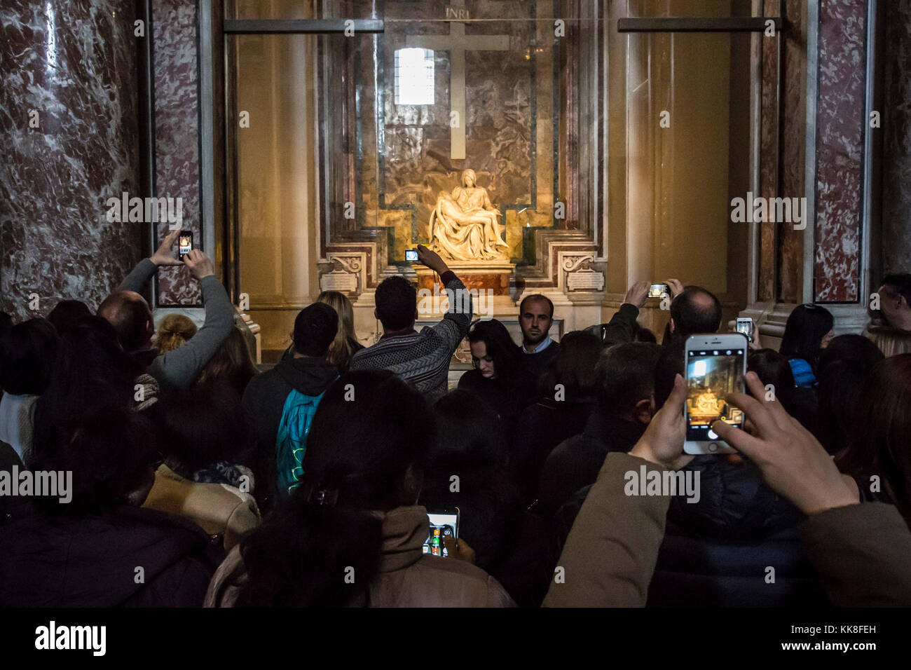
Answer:
<path fill-rule="evenodd" d="M 791 417 L 778 400 L 766 400 L 765 387 L 754 372 L 746 375 L 752 396 L 732 394 L 732 401 L 750 418 L 752 434 L 716 421 L 711 429 L 751 459 L 773 490 L 804 514 L 859 502 L 856 487 L 835 467 L 816 438 Z"/>

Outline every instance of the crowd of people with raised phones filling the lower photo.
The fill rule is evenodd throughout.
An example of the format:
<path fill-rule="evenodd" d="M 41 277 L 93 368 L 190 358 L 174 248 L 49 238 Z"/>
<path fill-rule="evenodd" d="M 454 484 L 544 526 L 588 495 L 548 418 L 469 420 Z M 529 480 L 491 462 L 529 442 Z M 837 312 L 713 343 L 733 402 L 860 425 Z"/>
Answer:
<path fill-rule="evenodd" d="M 746 427 L 712 426 L 737 453 L 692 456 L 683 347 L 722 328 L 704 288 L 668 281 L 660 344 L 637 322 L 648 283 L 559 342 L 554 305 L 527 295 L 517 345 L 470 301 L 415 330 L 415 287 L 393 276 L 374 345 L 324 292 L 261 371 L 176 235 L 94 314 L 0 314 L 0 482 L 71 474 L 66 502 L 0 486 L 0 605 L 911 604 L 911 275 L 885 277 L 864 335 L 834 336 L 813 304 L 779 351 L 757 330 L 730 398 Z M 205 321 L 156 328 L 140 292 L 179 263 Z M 449 390 L 465 338 L 473 369 Z M 698 500 L 630 495 L 640 469 L 698 474 Z M 455 508 L 448 555 L 426 551 L 428 511 Z"/>

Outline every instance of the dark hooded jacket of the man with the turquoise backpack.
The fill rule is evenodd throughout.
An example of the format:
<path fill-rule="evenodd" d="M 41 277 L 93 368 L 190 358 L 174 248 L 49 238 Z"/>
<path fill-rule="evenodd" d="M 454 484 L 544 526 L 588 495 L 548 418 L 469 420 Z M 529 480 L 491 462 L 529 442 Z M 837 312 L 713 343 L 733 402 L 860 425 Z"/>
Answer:
<path fill-rule="evenodd" d="M 253 469 L 258 482 L 253 495 L 263 514 L 275 500 L 275 439 L 288 394 L 296 389 L 305 396 L 319 396 L 337 377 L 338 369 L 322 358 L 289 356 L 247 385 L 242 404 L 250 421 L 251 443 L 240 460 Z"/>

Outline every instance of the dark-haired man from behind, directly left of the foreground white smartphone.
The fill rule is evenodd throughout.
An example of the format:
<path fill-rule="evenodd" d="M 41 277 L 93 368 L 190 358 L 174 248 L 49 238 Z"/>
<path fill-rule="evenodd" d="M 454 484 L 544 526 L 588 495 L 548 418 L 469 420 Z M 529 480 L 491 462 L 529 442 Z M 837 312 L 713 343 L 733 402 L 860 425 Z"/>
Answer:
<path fill-rule="evenodd" d="M 655 367 L 660 347 L 628 342 L 605 349 L 596 368 L 598 404 L 585 430 L 550 452 L 541 471 L 537 499 L 551 514 L 579 489 L 598 479 L 610 451 L 629 451 L 655 413 Z"/>

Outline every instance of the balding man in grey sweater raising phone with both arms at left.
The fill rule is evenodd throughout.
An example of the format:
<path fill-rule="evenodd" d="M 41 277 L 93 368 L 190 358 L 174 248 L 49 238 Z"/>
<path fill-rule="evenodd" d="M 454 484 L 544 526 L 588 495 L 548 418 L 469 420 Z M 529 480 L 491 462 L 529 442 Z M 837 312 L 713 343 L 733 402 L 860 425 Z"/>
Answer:
<path fill-rule="evenodd" d="M 162 391 L 189 387 L 234 325 L 234 305 L 215 276 L 215 267 L 206 254 L 194 249 L 184 256 L 182 263 L 174 258 L 173 246 L 179 234 L 180 231 L 171 232 L 157 252 L 140 261 L 117 291 L 98 306 L 97 312 L 114 326 L 124 350 L 148 366 L 148 374 L 155 377 Z M 155 335 L 154 318 L 139 292 L 158 272 L 160 265 L 186 265 L 189 268 L 202 289 L 206 321 L 185 345 L 158 356 L 151 345 L 151 337 Z"/>

